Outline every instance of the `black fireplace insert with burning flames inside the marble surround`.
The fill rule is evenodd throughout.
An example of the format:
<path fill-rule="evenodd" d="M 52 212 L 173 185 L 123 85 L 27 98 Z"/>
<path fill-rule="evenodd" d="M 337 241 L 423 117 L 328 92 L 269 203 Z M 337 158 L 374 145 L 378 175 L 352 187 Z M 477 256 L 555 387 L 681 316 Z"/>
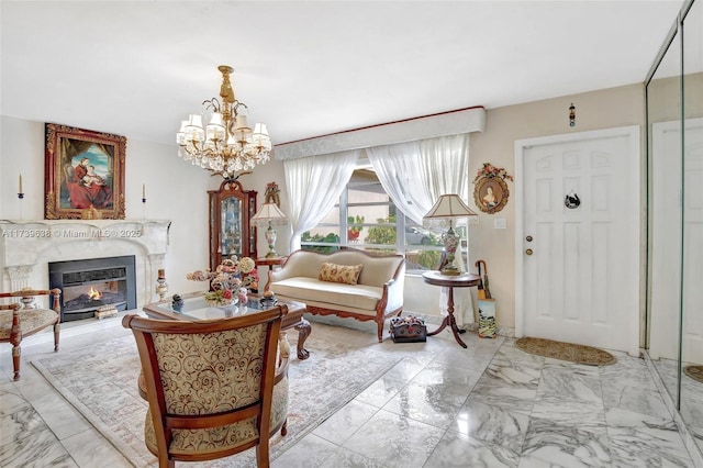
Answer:
<path fill-rule="evenodd" d="M 62 290 L 62 322 L 93 317 L 99 308 L 136 308 L 134 255 L 53 261 L 48 282 Z"/>

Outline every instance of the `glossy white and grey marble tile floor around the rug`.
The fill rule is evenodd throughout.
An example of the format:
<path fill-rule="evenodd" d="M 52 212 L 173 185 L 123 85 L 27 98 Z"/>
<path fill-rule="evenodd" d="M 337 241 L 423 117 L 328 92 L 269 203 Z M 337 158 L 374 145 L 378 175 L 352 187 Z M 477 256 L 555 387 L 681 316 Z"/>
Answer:
<path fill-rule="evenodd" d="M 308 348 L 345 331 L 313 323 Z M 119 319 L 69 322 L 60 353 L 124 334 Z M 272 466 L 695 467 L 644 359 L 616 353 L 599 368 L 528 355 L 512 338 L 464 338 L 468 349 L 446 331 L 379 344 L 370 331 L 359 346 L 404 358 Z M 0 466 L 131 466 L 32 367 L 52 348 L 48 333 L 25 338 L 13 382 L 10 345 L 0 347 Z"/>

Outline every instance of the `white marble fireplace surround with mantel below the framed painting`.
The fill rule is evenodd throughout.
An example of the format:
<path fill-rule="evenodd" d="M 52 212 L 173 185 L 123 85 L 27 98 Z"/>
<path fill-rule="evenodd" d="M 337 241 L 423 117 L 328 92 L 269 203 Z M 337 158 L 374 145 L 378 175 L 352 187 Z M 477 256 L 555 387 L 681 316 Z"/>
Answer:
<path fill-rule="evenodd" d="M 48 289 L 51 261 L 134 255 L 137 307 L 155 299 L 170 221 L 0 221 L 2 291 Z"/>

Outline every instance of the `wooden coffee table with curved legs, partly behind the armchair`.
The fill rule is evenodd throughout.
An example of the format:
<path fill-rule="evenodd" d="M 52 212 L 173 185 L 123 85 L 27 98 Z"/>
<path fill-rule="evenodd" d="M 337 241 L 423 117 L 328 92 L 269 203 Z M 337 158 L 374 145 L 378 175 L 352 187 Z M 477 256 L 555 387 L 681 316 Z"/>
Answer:
<path fill-rule="evenodd" d="M 246 308 L 237 305 L 230 307 L 210 307 L 205 303 L 202 292 L 192 292 L 185 294 L 183 305 L 179 309 L 174 308 L 171 299 L 167 301 L 154 302 L 144 305 L 142 310 L 146 312 L 149 319 L 159 320 L 217 320 L 236 315 L 253 314 L 265 311 L 267 307 L 263 307 L 259 303 L 260 297 L 256 294 L 249 294 L 249 300 Z M 276 305 L 284 305 L 288 311 L 283 311 L 284 315 L 281 320 L 281 333 L 286 333 L 290 328 L 298 331 L 298 359 L 308 359 L 310 353 L 305 349 L 305 339 L 310 336 L 312 327 L 310 322 L 303 317 L 306 305 L 297 301 L 279 301 Z"/>

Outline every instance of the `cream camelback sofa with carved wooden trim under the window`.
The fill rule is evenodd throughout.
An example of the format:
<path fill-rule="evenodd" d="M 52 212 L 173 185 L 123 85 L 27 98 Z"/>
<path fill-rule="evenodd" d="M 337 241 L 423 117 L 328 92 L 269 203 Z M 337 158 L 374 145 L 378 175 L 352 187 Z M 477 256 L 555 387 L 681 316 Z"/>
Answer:
<path fill-rule="evenodd" d="M 345 270 L 335 280 L 321 280 L 331 271 Z M 356 283 L 348 280 L 349 268 L 359 266 Z M 337 268 L 338 267 L 338 268 Z M 336 270 L 335 270 L 336 268 Z M 333 275 L 334 276 L 334 275 Z M 331 279 L 327 275 L 327 279 Z M 293 252 L 281 268 L 269 270 L 266 290 L 280 300 L 304 302 L 308 312 L 337 315 L 378 324 L 378 341 L 383 341 L 384 320 L 403 311 L 405 258 L 402 255 L 373 256 L 364 250 L 343 248 L 333 254 Z"/>

